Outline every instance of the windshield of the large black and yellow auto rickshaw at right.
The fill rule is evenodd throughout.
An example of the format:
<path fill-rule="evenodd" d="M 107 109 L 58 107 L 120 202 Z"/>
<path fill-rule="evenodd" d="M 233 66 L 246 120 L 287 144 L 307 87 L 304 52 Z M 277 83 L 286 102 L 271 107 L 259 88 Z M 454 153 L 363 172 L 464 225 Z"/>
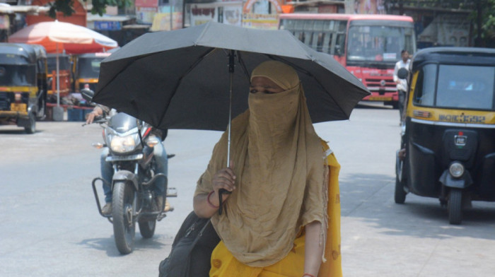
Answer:
<path fill-rule="evenodd" d="M 494 109 L 494 66 L 426 64 L 418 73 L 414 104 Z"/>

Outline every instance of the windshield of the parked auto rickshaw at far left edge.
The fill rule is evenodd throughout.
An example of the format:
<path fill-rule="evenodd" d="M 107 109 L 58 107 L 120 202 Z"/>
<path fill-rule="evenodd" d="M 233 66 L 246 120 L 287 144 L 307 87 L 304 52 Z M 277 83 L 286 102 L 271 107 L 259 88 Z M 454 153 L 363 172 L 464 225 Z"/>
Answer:
<path fill-rule="evenodd" d="M 0 65 L 0 86 L 37 86 L 35 65 Z"/>

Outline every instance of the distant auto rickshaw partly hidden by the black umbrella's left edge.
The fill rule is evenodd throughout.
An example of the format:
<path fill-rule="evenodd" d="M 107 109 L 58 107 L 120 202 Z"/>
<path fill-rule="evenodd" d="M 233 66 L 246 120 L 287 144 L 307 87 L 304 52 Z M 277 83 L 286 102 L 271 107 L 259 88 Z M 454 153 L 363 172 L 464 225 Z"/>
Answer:
<path fill-rule="evenodd" d="M 88 85 L 89 89 L 93 91 L 96 90 L 96 83 L 98 83 L 100 76 L 100 63 L 110 54 L 112 53 L 88 53 L 76 57 L 75 88 L 77 92 L 85 88 L 85 85 Z"/>

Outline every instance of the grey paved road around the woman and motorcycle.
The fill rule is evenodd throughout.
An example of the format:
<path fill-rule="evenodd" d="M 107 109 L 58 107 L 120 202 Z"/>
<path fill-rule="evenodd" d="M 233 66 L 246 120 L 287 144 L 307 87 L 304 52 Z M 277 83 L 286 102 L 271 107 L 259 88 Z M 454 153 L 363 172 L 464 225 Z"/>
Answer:
<path fill-rule="evenodd" d="M 495 276 L 495 204 L 474 202 L 460 226 L 448 224 L 436 199 L 408 195 L 394 204 L 398 122 L 397 110 L 361 107 L 349 121 L 315 126 L 342 165 L 344 276 Z M 220 133 L 170 130 L 175 211 L 155 237 L 137 232 L 134 252 L 120 255 L 91 191 L 100 127 L 38 122 L 37 129 L 0 126 L 0 276 L 157 276 Z"/>

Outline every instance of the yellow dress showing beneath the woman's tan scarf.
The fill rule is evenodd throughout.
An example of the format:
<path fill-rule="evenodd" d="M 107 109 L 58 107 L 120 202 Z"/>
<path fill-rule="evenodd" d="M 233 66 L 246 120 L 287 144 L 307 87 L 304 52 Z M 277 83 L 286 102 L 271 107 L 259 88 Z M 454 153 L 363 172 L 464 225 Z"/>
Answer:
<path fill-rule="evenodd" d="M 318 277 L 342 277 L 340 255 L 340 194 L 339 170 L 337 163 L 327 143 L 322 143 L 327 155 L 327 165 L 330 167 L 328 184 L 328 229 L 324 257 Z M 220 242 L 211 254 L 210 277 L 301 277 L 304 271 L 304 242 L 301 235 L 294 241 L 293 249 L 281 261 L 271 266 L 252 267 L 240 263 L 225 244 Z"/>

